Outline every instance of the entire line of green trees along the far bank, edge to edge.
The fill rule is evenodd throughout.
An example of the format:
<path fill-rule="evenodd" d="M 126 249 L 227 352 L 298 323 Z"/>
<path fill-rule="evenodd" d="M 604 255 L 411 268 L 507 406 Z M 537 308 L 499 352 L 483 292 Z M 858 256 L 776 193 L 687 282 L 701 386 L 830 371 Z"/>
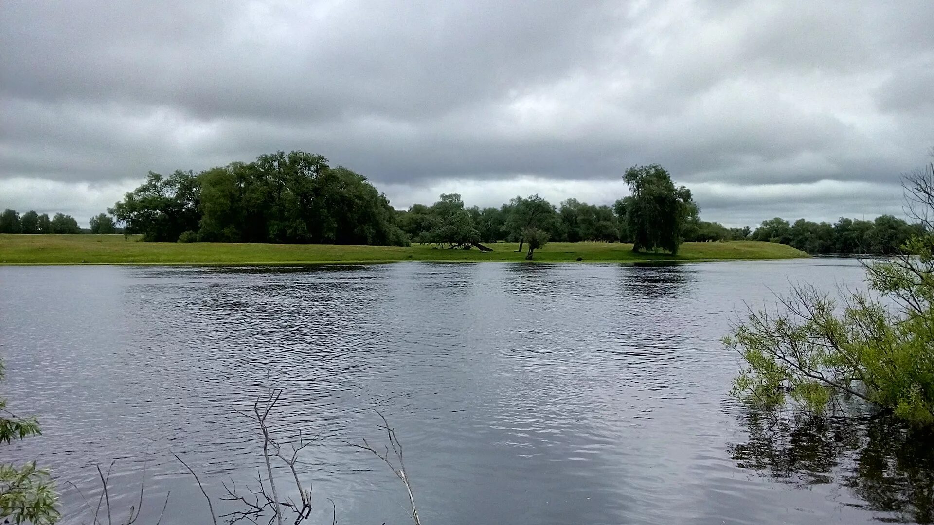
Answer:
<path fill-rule="evenodd" d="M 92 234 L 125 231 L 145 241 L 271 242 L 487 249 L 482 243 L 512 241 L 519 251 L 534 238 L 547 241 L 631 243 L 633 250 L 677 253 L 682 242 L 758 240 L 809 253 L 895 253 L 920 231 L 885 215 L 836 223 L 775 218 L 755 231 L 701 220 L 689 189 L 676 187 L 658 164 L 632 166 L 623 175 L 630 196 L 612 206 L 569 198 L 555 206 L 539 195 L 517 196 L 502 206 L 464 205 L 457 193 L 406 210 L 389 205 L 366 177 L 333 167 L 321 155 L 290 151 L 260 155 L 200 173 L 149 173 L 122 201 L 90 220 Z M 116 219 L 116 221 L 114 220 Z M 118 225 L 125 225 L 125 230 Z M 0 215 L 0 233 L 79 233 L 64 214 Z"/>

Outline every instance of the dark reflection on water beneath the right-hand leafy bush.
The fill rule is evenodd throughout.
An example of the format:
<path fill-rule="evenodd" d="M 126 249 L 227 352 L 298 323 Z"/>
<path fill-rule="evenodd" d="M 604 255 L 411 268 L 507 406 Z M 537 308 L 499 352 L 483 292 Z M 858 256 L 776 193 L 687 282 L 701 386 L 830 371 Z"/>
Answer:
<path fill-rule="evenodd" d="M 797 488 L 839 483 L 880 521 L 934 523 L 934 433 L 888 416 L 776 415 L 749 410 L 730 444 L 737 466 Z"/>

